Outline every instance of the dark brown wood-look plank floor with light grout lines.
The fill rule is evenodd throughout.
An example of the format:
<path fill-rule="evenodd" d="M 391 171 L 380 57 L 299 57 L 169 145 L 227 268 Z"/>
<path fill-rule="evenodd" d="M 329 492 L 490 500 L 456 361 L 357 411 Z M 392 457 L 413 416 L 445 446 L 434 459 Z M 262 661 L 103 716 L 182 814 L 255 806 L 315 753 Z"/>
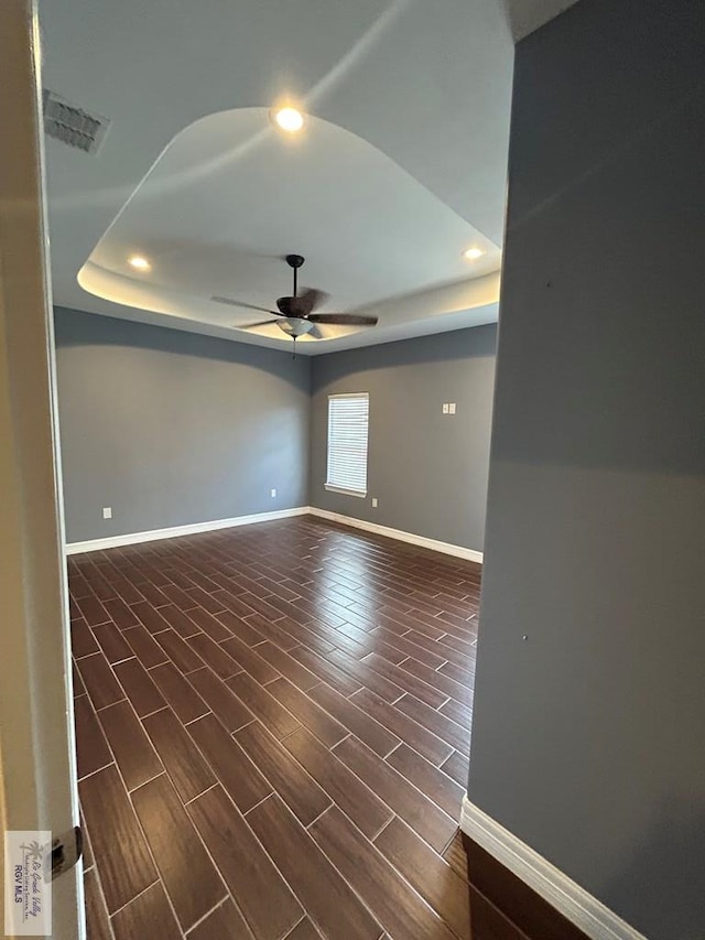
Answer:
<path fill-rule="evenodd" d="M 478 565 L 301 517 L 68 566 L 90 940 L 470 937 Z"/>

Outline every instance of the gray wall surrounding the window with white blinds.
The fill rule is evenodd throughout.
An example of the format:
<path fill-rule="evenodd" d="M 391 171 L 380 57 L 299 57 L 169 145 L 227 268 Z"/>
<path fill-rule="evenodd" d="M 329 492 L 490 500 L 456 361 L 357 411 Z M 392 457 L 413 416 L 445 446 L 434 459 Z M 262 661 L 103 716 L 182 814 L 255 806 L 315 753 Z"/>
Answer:
<path fill-rule="evenodd" d="M 312 505 L 481 551 L 496 334 L 492 324 L 315 357 Z M 328 395 L 351 391 L 370 393 L 366 499 L 324 488 Z"/>

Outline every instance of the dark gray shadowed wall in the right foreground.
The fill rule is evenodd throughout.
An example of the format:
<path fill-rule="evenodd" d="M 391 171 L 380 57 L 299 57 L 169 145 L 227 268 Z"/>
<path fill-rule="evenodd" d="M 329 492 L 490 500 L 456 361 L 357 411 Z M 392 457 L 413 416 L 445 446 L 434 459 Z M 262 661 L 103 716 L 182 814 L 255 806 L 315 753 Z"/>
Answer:
<path fill-rule="evenodd" d="M 652 940 L 705 936 L 704 62 L 695 0 L 518 46 L 470 756 Z"/>

